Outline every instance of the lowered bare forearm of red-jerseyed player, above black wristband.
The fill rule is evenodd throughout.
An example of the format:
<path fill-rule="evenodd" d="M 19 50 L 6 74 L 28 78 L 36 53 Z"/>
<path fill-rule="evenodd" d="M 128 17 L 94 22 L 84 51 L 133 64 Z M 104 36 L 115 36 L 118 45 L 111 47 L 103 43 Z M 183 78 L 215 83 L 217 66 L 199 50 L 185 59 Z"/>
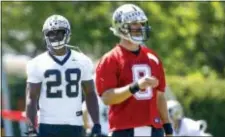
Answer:
<path fill-rule="evenodd" d="M 166 98 L 163 92 L 157 93 L 157 106 L 163 123 L 170 123 L 167 111 Z"/>

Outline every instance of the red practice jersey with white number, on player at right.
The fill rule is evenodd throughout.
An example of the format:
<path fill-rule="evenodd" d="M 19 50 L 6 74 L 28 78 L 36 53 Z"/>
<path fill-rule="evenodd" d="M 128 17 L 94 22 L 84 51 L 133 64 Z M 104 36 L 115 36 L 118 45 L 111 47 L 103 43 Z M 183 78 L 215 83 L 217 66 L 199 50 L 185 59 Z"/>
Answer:
<path fill-rule="evenodd" d="M 140 48 L 140 53 L 135 55 L 117 45 L 102 57 L 96 68 L 96 87 L 100 96 L 108 89 L 124 87 L 143 76 L 155 76 L 159 80 L 158 87 L 139 91 L 122 103 L 110 106 L 110 131 L 147 125 L 162 126 L 156 106 L 156 92 L 164 92 L 165 89 L 163 66 L 156 53 L 145 46 Z"/>

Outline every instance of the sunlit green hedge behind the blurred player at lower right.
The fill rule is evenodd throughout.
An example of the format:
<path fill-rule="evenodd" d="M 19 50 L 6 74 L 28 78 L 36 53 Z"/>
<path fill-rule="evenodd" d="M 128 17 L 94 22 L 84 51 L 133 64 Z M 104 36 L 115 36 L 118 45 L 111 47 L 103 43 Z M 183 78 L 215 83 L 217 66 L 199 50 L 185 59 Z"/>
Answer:
<path fill-rule="evenodd" d="M 187 117 L 205 119 L 208 123 L 207 132 L 214 136 L 223 136 L 225 80 L 193 74 L 187 77 L 169 76 L 168 83 L 184 107 Z"/>

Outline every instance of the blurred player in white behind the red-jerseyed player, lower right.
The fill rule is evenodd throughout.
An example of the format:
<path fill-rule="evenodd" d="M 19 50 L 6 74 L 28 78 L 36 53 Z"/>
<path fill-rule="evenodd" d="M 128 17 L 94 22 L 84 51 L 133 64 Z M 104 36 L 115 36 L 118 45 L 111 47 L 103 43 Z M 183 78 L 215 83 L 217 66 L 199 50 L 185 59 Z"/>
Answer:
<path fill-rule="evenodd" d="M 184 117 L 183 108 L 176 100 L 167 101 L 169 118 L 174 128 L 174 136 L 211 136 L 205 133 L 207 124 L 204 120 L 195 121 Z"/>

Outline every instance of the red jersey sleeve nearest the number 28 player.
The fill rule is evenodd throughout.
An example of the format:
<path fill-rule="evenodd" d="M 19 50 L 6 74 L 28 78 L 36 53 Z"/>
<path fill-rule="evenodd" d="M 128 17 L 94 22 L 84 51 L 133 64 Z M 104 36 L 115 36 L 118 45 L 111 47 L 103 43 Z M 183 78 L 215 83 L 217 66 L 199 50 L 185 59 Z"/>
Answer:
<path fill-rule="evenodd" d="M 117 86 L 116 60 L 108 56 L 101 59 L 96 68 L 96 88 L 99 96 L 108 89 Z"/>

